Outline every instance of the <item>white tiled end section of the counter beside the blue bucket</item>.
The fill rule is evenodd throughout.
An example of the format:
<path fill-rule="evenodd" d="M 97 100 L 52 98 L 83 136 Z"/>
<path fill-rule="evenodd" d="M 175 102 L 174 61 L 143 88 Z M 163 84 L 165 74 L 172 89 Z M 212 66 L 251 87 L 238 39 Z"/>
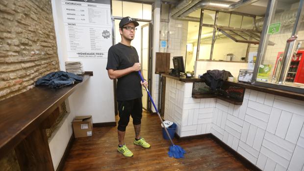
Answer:
<path fill-rule="evenodd" d="M 167 78 L 165 120 L 177 123 L 180 137 L 210 133 L 215 98 L 191 98 L 193 83 Z"/>

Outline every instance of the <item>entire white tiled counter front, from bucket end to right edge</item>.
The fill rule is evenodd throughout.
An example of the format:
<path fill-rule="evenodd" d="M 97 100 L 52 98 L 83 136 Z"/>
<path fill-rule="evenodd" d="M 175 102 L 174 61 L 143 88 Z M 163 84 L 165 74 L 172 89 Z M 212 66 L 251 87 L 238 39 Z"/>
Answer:
<path fill-rule="evenodd" d="M 179 123 L 180 137 L 212 133 L 261 170 L 304 171 L 303 101 L 246 89 L 234 105 L 191 90 L 167 79 L 165 119 Z"/>

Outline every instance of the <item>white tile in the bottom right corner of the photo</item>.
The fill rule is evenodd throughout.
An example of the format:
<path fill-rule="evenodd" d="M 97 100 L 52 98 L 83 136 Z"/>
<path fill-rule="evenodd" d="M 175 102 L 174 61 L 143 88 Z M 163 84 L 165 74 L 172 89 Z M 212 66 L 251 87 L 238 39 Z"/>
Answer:
<path fill-rule="evenodd" d="M 304 165 L 303 154 L 304 154 L 304 148 L 302 148 L 300 146 L 296 146 L 295 151 L 290 160 L 288 170 L 290 170 L 290 171 L 303 170 L 303 165 Z"/>

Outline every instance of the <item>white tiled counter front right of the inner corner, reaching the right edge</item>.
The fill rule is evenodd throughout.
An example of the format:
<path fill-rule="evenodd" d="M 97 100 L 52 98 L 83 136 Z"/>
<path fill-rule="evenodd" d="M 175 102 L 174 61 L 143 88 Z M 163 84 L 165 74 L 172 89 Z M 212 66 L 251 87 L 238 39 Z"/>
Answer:
<path fill-rule="evenodd" d="M 303 170 L 303 101 L 246 89 L 242 105 L 217 99 L 212 123 L 211 133 L 261 170 Z"/>

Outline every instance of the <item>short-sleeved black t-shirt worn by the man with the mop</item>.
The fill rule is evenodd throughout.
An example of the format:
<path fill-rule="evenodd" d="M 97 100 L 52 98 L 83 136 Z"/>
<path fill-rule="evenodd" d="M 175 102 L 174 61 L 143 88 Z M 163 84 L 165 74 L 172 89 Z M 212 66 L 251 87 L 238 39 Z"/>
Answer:
<path fill-rule="evenodd" d="M 123 70 L 132 67 L 137 62 L 139 62 L 139 57 L 136 49 L 132 46 L 129 47 L 118 43 L 108 51 L 106 69 Z M 143 94 L 138 72 L 132 72 L 118 78 L 116 91 L 117 100 L 119 101 L 141 98 Z"/>

